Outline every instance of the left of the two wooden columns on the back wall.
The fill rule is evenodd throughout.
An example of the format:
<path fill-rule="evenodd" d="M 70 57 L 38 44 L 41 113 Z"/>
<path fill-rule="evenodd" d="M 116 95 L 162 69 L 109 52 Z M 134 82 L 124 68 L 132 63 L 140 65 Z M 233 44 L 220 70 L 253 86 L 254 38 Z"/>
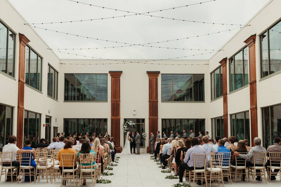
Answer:
<path fill-rule="evenodd" d="M 116 142 L 117 153 L 121 153 L 120 147 L 120 77 L 122 71 L 109 71 L 111 76 L 111 136 Z"/>

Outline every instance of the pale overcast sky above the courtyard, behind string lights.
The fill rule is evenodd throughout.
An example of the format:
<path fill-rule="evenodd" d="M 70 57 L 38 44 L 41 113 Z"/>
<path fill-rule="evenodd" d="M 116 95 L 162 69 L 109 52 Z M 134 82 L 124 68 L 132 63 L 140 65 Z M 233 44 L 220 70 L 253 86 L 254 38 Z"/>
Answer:
<path fill-rule="evenodd" d="M 77 1 L 102 7 L 143 13 L 165 8 L 189 5 L 208 0 Z M 84 4 L 77 4 L 75 2 L 67 0 L 10 0 L 10 2 L 29 23 L 96 19 L 131 14 Z M 268 0 L 216 0 L 208 3 L 150 14 L 181 20 L 184 19 L 201 22 L 246 24 L 246 22 L 249 21 L 249 19 L 252 18 L 253 15 L 255 15 L 267 2 Z M 168 20 L 145 15 L 133 15 L 113 19 L 111 18 L 104 20 L 45 24 L 35 26 L 71 34 L 78 34 L 86 37 L 133 44 L 143 44 L 184 37 L 192 37 L 240 27 L 234 25 L 213 25 L 206 23 L 203 24 L 178 20 Z M 35 28 L 35 30 L 53 49 L 95 48 L 124 45 L 109 41 L 98 41 L 95 39 L 86 39 L 66 34 L 60 34 L 56 32 L 41 30 L 38 28 Z M 238 29 L 228 32 L 222 32 L 220 34 L 150 45 L 185 49 L 220 49 L 220 47 L 225 44 L 225 42 L 229 40 L 237 31 Z M 68 52 L 110 59 L 166 59 L 205 53 L 204 51 L 159 49 L 145 46 L 130 46 L 114 49 L 109 48 L 68 50 Z M 57 53 L 57 55 L 59 56 L 59 58 L 84 58 L 81 56 L 64 53 Z M 212 55 L 213 53 L 187 57 L 186 59 L 209 59 Z"/>

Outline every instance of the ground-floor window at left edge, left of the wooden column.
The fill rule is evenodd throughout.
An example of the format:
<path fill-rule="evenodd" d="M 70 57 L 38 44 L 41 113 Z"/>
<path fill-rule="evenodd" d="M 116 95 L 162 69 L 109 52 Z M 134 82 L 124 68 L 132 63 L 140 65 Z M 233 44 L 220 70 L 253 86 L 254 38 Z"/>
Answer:
<path fill-rule="evenodd" d="M 9 136 L 12 135 L 13 108 L 0 104 L 0 151 L 8 143 Z"/>

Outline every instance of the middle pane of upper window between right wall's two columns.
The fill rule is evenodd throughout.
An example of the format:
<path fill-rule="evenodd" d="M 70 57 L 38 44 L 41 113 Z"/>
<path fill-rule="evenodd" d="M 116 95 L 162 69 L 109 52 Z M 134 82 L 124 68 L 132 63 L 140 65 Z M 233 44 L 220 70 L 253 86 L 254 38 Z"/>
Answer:
<path fill-rule="evenodd" d="M 240 51 L 234 56 L 234 70 L 235 70 L 235 89 L 241 88 L 243 86 L 243 54 Z"/>

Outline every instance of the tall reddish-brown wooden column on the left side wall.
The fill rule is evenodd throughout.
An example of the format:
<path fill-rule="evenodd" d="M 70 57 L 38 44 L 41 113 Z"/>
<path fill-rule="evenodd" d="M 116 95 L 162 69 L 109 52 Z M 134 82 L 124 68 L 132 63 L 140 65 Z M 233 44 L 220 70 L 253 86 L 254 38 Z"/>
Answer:
<path fill-rule="evenodd" d="M 24 118 L 24 86 L 25 86 L 25 47 L 29 41 L 23 34 L 18 34 L 20 40 L 18 63 L 18 119 L 17 146 L 23 147 L 23 118 Z"/>

